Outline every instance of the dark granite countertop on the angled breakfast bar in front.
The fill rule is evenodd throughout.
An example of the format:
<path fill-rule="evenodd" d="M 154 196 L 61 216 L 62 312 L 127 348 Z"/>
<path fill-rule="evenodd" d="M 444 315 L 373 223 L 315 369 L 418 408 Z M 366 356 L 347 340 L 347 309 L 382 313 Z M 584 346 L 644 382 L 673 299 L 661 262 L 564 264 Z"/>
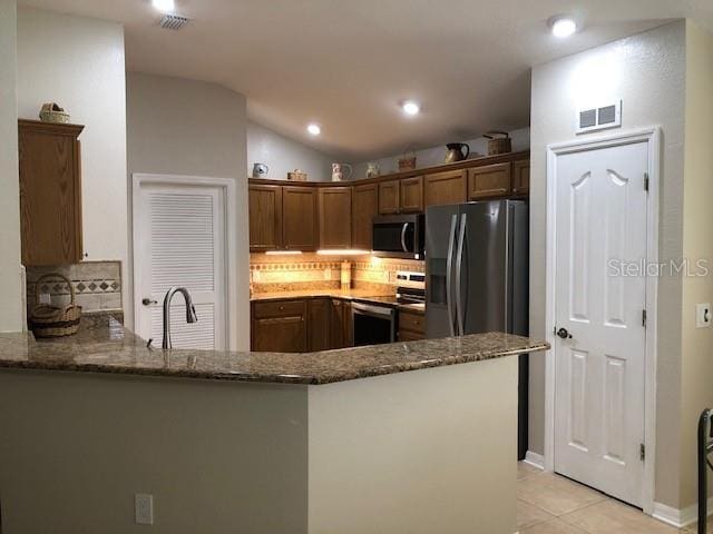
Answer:
<path fill-rule="evenodd" d="M 0 334 L 0 368 L 111 373 L 282 384 L 330 384 L 546 350 L 545 342 L 502 333 L 307 354 L 147 348 L 111 317 L 72 337 Z"/>

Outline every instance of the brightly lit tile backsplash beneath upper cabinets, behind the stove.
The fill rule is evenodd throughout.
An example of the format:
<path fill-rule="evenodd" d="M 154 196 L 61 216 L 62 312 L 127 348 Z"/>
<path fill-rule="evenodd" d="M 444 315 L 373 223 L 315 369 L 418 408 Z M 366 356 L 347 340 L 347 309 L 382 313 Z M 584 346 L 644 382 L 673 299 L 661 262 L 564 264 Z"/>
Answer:
<path fill-rule="evenodd" d="M 422 273 L 423 261 L 377 258 L 373 256 L 251 255 L 253 293 L 334 289 L 340 287 L 342 261 L 351 264 L 352 287 L 390 291 L 398 270 Z"/>

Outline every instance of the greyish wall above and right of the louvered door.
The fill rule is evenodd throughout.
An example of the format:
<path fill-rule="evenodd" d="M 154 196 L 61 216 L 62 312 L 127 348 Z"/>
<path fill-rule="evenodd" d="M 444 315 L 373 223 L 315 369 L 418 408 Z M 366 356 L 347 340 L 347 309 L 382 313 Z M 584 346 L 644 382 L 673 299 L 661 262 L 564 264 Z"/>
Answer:
<path fill-rule="evenodd" d="M 177 109 L 184 112 L 177 113 Z M 236 348 L 242 350 L 250 348 L 246 121 L 245 97 L 229 89 L 180 78 L 128 75 L 129 179 L 135 172 L 235 178 L 238 255 L 235 320 Z M 133 298 L 129 303 L 125 309 L 133 316 Z"/>

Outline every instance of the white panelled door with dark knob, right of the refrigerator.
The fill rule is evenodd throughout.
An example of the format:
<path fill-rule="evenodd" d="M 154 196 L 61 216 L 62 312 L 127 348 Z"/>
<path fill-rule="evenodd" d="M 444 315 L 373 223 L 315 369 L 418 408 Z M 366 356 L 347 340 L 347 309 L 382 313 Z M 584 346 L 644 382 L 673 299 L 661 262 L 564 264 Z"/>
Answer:
<path fill-rule="evenodd" d="M 648 150 L 560 154 L 555 174 L 555 471 L 637 506 Z"/>

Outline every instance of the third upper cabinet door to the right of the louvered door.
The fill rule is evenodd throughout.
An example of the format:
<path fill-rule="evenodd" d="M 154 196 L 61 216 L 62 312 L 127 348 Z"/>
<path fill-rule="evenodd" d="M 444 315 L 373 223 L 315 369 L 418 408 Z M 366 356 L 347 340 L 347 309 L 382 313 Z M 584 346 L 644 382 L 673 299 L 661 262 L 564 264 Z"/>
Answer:
<path fill-rule="evenodd" d="M 320 189 L 320 248 L 352 247 L 352 188 Z"/>

